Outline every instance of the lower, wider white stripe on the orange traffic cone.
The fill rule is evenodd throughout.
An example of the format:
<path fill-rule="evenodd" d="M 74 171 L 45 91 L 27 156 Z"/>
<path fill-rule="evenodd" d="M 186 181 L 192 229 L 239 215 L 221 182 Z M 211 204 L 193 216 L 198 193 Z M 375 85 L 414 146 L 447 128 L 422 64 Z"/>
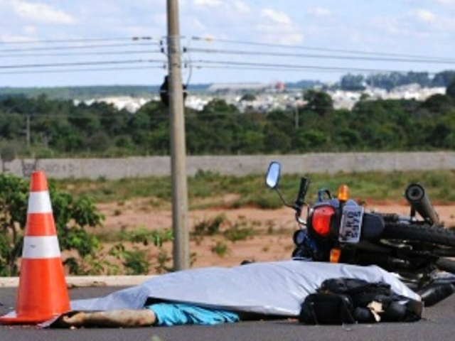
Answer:
<path fill-rule="evenodd" d="M 60 257 L 57 236 L 23 237 L 22 258 L 43 259 Z"/>

